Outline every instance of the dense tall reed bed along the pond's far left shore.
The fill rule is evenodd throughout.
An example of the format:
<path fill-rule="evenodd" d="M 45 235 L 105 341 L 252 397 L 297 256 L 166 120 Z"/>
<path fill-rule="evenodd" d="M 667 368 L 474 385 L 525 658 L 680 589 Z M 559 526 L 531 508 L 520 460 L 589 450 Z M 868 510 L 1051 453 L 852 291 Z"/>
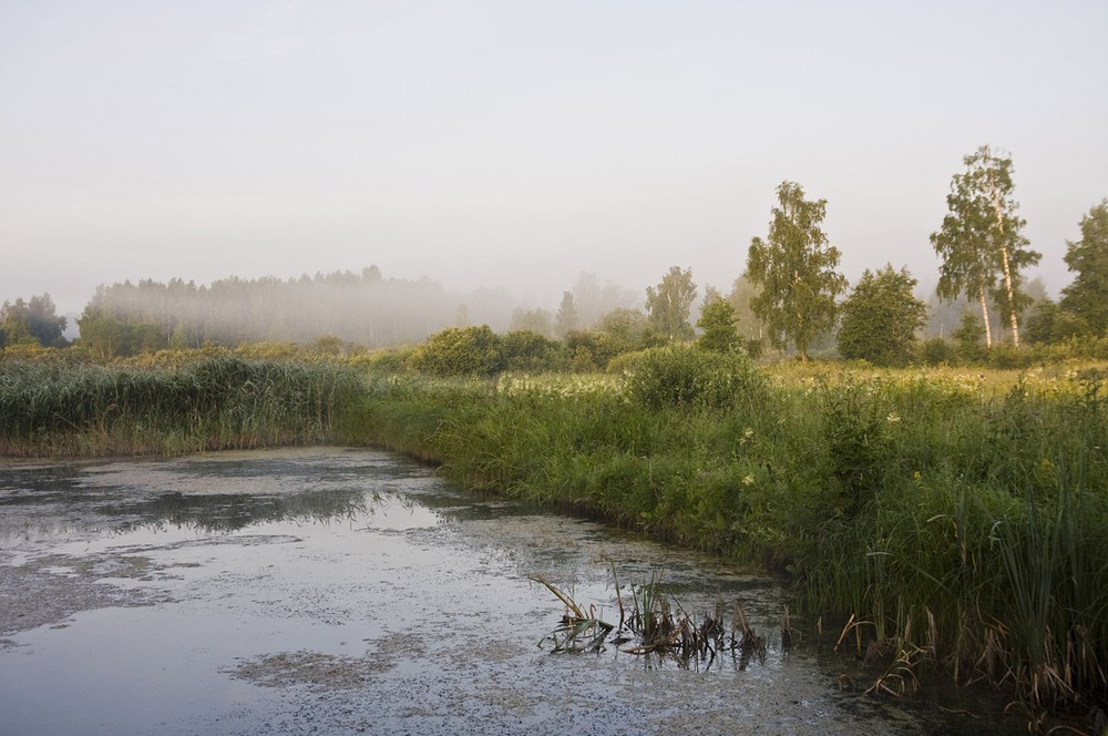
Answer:
<path fill-rule="evenodd" d="M 145 364 L 0 361 L 0 456 L 181 454 L 328 441 L 360 390 L 327 361 L 172 354 Z"/>

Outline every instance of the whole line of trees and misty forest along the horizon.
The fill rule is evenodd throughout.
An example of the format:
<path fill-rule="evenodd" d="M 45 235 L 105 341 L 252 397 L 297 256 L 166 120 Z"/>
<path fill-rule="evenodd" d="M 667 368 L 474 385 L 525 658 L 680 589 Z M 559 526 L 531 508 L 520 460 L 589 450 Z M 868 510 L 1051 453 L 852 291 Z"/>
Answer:
<path fill-rule="evenodd" d="M 963 160 L 946 196 L 947 214 L 931 234 L 941 258 L 936 297 L 975 304 L 979 318 L 963 311 L 951 337 L 970 352 L 984 340 L 1002 340 L 993 315 L 1002 318 L 1010 345 L 1053 344 L 1106 337 L 1108 330 L 1108 200 L 1080 222 L 1081 238 L 1067 242 L 1065 262 L 1075 274 L 1055 303 L 1043 297 L 1029 310 L 1024 270 L 1042 255 L 1029 247 L 1014 196 L 1010 155 L 982 146 Z M 920 357 L 920 330 L 929 305 L 914 295 L 906 268 L 892 264 L 866 269 L 853 289 L 839 272 L 841 252 L 823 232 L 827 200 L 809 200 L 800 184 L 777 188 L 768 233 L 747 251 L 746 272 L 724 295 L 710 286 L 700 306 L 700 340 L 711 349 L 763 347 L 809 358 L 812 346 L 833 340 L 848 359 L 903 365 Z M 563 341 L 578 360 L 599 364 L 619 351 L 689 341 L 697 336 L 691 309 L 698 289 L 691 272 L 671 267 L 645 299 L 582 274 L 563 294 L 556 313 L 512 309 L 503 292 L 460 297 L 428 279 L 384 278 L 376 266 L 360 274 L 337 272 L 281 280 L 228 278 L 211 286 L 172 279 L 100 286 L 78 324 L 81 344 L 95 356 L 114 357 L 163 348 L 246 343 L 309 343 L 320 337 L 368 348 L 418 344 L 443 329 L 486 325 L 499 331 L 530 333 Z M 507 315 L 511 315 L 510 318 Z M 4 301 L 0 348 L 20 343 L 60 347 L 66 319 L 50 296 Z M 997 327 L 999 327 L 999 324 Z M 831 337 L 833 336 L 833 337 Z M 940 341 L 942 343 L 942 340 Z M 931 341 L 932 358 L 943 346 Z"/>

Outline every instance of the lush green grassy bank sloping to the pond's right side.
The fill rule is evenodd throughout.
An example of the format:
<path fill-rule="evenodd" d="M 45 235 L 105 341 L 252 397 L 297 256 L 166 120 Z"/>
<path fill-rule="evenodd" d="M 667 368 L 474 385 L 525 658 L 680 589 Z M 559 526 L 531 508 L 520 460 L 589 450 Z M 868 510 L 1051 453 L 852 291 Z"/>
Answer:
<path fill-rule="evenodd" d="M 936 667 L 1035 712 L 1108 699 L 1096 371 L 765 374 L 688 352 L 627 381 L 380 378 L 353 431 L 470 488 L 787 570 L 813 611 L 856 614 L 891 687 Z"/>

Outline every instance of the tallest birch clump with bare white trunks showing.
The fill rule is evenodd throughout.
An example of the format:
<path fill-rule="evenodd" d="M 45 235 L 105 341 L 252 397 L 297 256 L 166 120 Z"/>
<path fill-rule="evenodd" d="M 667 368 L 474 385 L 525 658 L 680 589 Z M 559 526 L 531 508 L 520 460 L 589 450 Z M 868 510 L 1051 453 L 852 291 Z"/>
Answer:
<path fill-rule="evenodd" d="M 1019 290 L 1020 269 L 1038 263 L 1022 231 L 1026 221 L 1013 197 L 1012 157 L 994 155 L 987 145 L 963 159 L 965 172 L 955 174 L 946 196 L 943 226 L 931 234 L 942 258 L 936 293 L 944 300 L 965 296 L 981 305 L 985 345 L 993 345 L 988 297 L 1001 305 L 1019 346 L 1019 311 L 1027 298 Z"/>

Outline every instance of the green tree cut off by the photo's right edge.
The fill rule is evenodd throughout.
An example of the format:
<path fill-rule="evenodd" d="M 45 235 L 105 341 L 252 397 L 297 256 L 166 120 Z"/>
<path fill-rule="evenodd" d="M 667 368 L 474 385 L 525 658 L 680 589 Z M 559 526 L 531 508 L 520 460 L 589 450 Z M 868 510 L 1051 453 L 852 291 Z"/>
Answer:
<path fill-rule="evenodd" d="M 1067 241 L 1064 257 L 1077 275 L 1061 290 L 1061 308 L 1094 335 L 1108 336 L 1108 200 L 1081 217 L 1081 239 Z"/>

